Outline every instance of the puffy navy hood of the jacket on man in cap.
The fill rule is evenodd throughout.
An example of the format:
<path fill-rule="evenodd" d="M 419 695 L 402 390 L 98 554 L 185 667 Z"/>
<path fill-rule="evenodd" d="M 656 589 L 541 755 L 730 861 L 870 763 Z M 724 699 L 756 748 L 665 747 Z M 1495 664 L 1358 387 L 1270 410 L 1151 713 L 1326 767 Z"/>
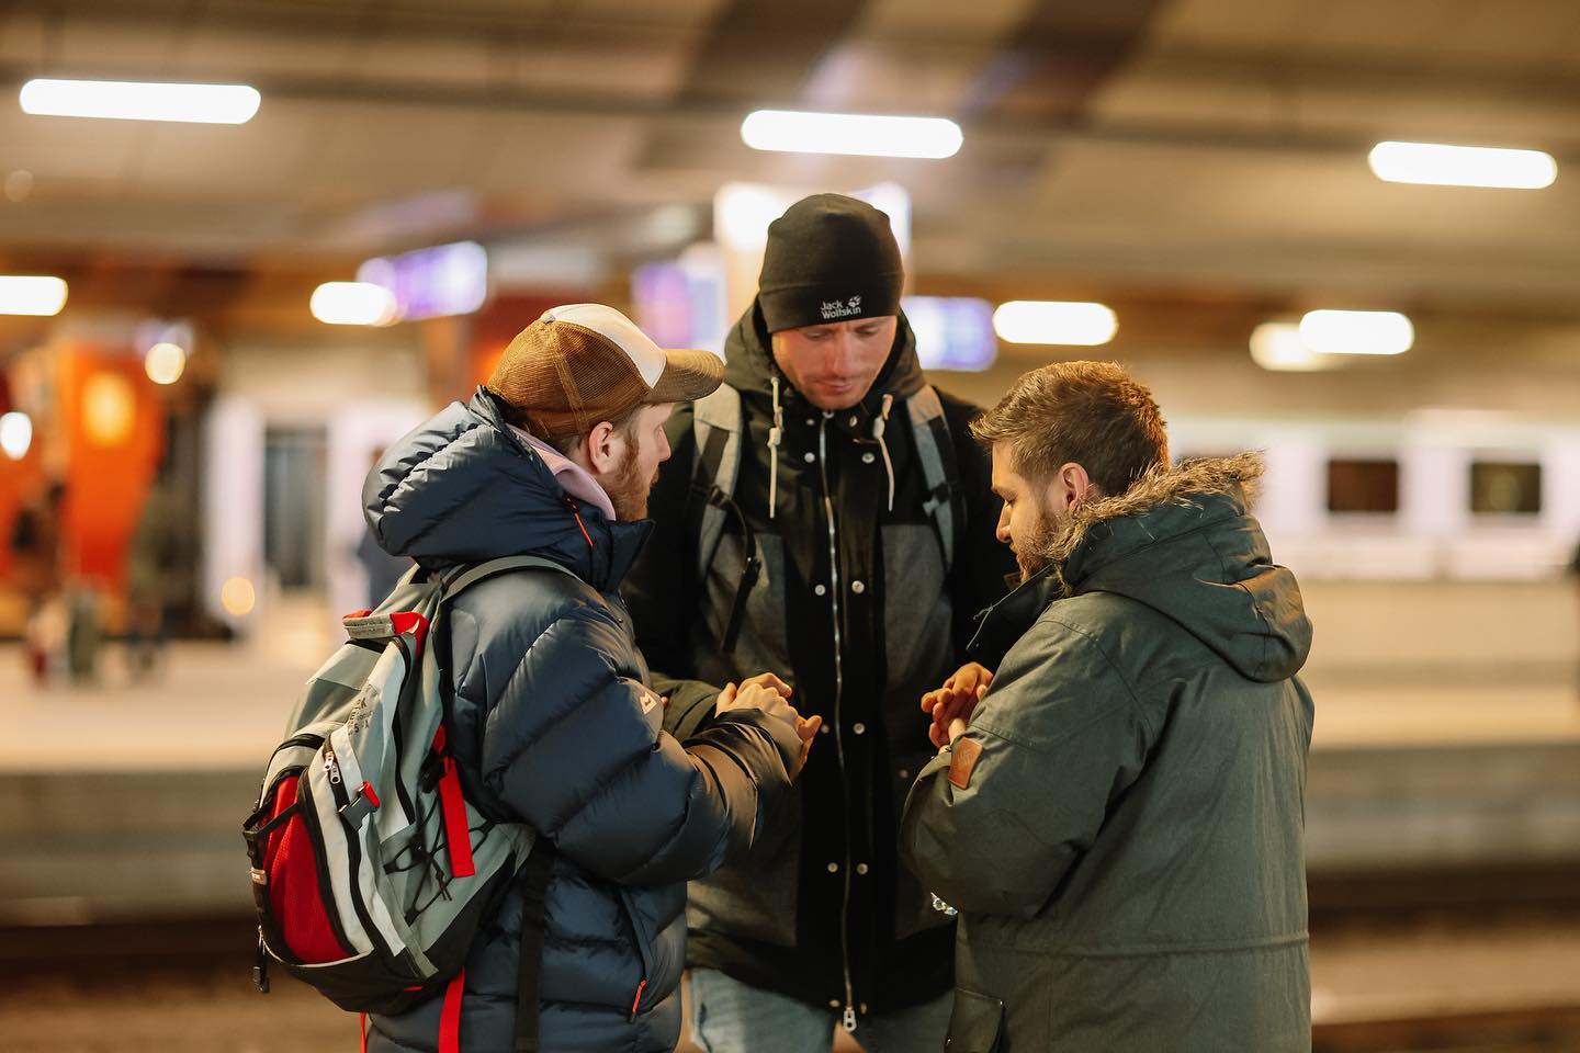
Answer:
<path fill-rule="evenodd" d="M 600 592 L 613 589 L 653 524 L 611 521 L 566 494 L 496 398 L 479 387 L 389 448 L 362 491 L 373 537 L 423 567 L 534 553 Z"/>

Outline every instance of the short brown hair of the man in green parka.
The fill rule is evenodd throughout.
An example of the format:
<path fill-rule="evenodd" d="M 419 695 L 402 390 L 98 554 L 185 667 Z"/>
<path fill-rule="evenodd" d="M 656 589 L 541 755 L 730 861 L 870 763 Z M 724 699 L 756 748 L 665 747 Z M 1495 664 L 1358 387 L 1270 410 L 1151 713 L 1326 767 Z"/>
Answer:
<path fill-rule="evenodd" d="M 1032 369 L 972 423 L 972 434 L 989 448 L 1010 442 L 1014 470 L 1030 480 L 1074 461 L 1109 497 L 1169 463 L 1163 412 L 1115 362 Z"/>

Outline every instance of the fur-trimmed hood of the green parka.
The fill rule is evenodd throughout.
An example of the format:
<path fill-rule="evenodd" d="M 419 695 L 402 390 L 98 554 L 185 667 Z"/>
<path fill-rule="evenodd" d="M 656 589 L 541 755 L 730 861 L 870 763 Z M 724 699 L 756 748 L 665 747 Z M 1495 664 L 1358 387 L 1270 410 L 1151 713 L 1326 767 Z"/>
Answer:
<path fill-rule="evenodd" d="M 1114 592 L 1179 622 L 1242 676 L 1300 671 L 1311 622 L 1294 575 L 1272 562 L 1248 516 L 1261 455 L 1157 469 L 1079 508 L 1049 541 L 1065 595 Z"/>

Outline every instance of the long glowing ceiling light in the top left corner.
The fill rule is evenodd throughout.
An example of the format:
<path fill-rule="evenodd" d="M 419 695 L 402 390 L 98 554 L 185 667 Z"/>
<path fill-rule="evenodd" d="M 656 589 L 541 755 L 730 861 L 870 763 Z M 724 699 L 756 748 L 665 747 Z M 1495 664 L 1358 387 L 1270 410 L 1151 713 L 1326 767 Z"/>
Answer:
<path fill-rule="evenodd" d="M 28 114 L 180 120 L 245 125 L 262 99 L 245 84 L 149 84 L 142 81 L 28 81 L 21 103 Z"/>

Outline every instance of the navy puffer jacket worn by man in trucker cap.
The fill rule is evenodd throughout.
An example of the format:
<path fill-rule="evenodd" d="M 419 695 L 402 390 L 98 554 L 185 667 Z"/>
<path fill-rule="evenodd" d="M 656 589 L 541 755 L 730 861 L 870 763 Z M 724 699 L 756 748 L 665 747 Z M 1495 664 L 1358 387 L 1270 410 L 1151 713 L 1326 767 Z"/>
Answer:
<path fill-rule="evenodd" d="M 788 796 L 799 740 L 760 710 L 733 710 L 684 745 L 662 731 L 618 592 L 651 523 L 610 521 L 569 497 L 487 390 L 397 442 L 363 505 L 379 545 L 425 568 L 531 553 L 575 573 L 506 573 L 450 603 L 434 641 L 450 742 L 483 813 L 529 823 L 556 849 L 542 1048 L 673 1048 L 684 882 L 758 837 Z M 466 961 L 463 1050 L 512 1048 L 520 928 L 512 887 Z M 368 1048 L 434 1050 L 439 1010 L 436 998 L 373 1017 Z"/>

